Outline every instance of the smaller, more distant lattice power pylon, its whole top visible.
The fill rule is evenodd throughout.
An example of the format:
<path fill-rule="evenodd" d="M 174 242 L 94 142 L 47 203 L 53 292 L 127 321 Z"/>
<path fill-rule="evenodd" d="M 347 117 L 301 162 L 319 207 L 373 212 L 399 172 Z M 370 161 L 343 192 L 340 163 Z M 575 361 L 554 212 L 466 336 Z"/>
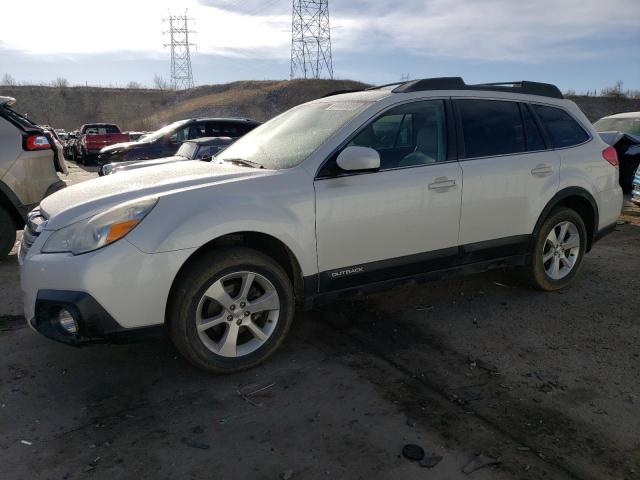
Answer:
<path fill-rule="evenodd" d="M 171 47 L 171 87 L 174 90 L 184 90 L 193 88 L 193 72 L 191 70 L 190 47 L 195 46 L 189 41 L 189 34 L 195 33 L 189 30 L 189 20 L 187 10 L 184 15 L 171 15 L 163 18 L 162 21 L 169 22 L 169 30 L 163 32 L 169 34 L 169 43 L 165 47 Z"/>

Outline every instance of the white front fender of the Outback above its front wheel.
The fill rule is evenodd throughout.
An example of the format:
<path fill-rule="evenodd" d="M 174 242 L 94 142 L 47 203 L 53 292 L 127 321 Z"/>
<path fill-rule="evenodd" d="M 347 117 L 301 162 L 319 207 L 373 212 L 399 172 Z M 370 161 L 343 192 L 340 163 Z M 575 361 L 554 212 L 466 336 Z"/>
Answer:
<path fill-rule="evenodd" d="M 298 168 L 163 196 L 127 238 L 143 252 L 160 253 L 231 233 L 264 233 L 283 242 L 310 275 L 317 273 L 314 215 L 312 178 Z"/>

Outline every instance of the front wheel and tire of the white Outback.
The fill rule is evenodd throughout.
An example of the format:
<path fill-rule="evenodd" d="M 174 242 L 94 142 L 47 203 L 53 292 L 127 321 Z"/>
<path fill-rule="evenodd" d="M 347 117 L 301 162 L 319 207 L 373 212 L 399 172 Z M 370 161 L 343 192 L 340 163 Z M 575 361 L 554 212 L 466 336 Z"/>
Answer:
<path fill-rule="evenodd" d="M 177 282 L 167 318 L 171 339 L 203 370 L 231 373 L 262 363 L 282 344 L 293 322 L 289 277 L 273 259 L 255 250 L 231 247 L 208 253 L 188 266 Z M 249 283 L 249 293 L 243 294 Z M 269 308 L 262 310 L 263 306 Z M 198 331 L 198 324 L 211 326 Z M 231 340 L 234 333 L 236 342 Z"/>

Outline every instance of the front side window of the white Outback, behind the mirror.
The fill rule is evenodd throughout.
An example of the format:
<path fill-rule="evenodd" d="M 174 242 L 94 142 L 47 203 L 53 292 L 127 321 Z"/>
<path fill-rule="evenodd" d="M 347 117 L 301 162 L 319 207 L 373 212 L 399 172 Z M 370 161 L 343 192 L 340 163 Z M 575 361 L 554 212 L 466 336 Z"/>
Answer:
<path fill-rule="evenodd" d="M 377 150 L 380 170 L 445 161 L 444 104 L 442 100 L 426 100 L 392 108 L 367 125 L 349 145 Z"/>

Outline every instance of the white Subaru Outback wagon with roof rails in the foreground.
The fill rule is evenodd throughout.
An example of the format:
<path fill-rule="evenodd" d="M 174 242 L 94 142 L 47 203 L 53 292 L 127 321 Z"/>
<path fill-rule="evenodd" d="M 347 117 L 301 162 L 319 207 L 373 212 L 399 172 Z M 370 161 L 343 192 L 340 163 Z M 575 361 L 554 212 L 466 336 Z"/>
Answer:
<path fill-rule="evenodd" d="M 327 96 L 213 162 L 74 185 L 29 215 L 29 325 L 71 345 L 166 329 L 251 367 L 311 308 L 409 279 L 525 266 L 568 285 L 622 205 L 615 150 L 553 85 L 435 78 Z"/>

